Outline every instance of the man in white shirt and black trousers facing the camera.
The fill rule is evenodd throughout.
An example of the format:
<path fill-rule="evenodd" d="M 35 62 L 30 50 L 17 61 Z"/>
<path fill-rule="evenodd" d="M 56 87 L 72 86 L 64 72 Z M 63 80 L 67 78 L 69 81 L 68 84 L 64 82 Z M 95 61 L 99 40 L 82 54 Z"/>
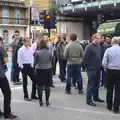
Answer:
<path fill-rule="evenodd" d="M 23 39 L 24 45 L 18 50 L 18 65 L 22 70 L 22 76 L 23 76 L 23 91 L 24 91 L 24 99 L 26 101 L 31 101 L 31 99 L 28 96 L 28 90 L 27 90 L 27 76 L 30 77 L 32 80 L 32 99 L 38 99 L 36 97 L 36 82 L 35 82 L 35 76 L 34 76 L 34 58 L 33 58 L 33 50 L 29 47 L 30 40 L 28 37 L 25 37 Z"/>

